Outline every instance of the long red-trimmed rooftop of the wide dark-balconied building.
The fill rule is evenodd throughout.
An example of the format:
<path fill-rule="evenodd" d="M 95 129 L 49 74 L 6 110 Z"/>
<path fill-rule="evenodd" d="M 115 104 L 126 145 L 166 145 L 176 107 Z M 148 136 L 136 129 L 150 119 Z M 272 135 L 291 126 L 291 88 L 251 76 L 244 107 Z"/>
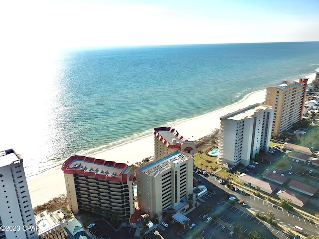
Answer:
<path fill-rule="evenodd" d="M 110 181 L 119 181 L 114 180 L 114 178 L 126 175 L 129 167 L 125 163 L 74 155 L 63 163 L 62 170 L 68 174 L 83 174 L 106 180 L 109 178 Z M 111 178 L 113 179 L 111 180 Z"/>

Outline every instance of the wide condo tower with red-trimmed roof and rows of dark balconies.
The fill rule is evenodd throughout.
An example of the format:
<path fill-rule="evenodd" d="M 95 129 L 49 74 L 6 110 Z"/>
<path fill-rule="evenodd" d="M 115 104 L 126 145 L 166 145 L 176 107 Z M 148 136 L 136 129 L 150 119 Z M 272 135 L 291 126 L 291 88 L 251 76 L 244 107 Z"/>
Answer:
<path fill-rule="evenodd" d="M 94 212 L 129 222 L 134 213 L 134 169 L 85 156 L 71 156 L 62 165 L 70 209 Z M 114 216 L 115 215 L 115 216 Z"/>

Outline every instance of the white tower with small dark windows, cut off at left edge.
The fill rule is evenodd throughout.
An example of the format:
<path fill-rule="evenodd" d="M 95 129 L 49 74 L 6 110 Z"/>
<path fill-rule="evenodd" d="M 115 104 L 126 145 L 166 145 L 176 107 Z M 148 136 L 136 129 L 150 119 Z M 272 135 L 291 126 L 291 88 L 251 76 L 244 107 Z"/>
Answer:
<path fill-rule="evenodd" d="M 0 152 L 0 188 L 0 239 L 38 238 L 23 159 L 13 149 Z"/>

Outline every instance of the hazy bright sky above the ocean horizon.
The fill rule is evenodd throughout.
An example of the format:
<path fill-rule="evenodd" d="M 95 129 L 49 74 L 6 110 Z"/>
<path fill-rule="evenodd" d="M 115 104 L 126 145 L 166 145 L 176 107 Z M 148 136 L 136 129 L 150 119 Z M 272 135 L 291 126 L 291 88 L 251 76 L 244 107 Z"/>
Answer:
<path fill-rule="evenodd" d="M 319 0 L 9 0 L 2 46 L 319 41 Z"/>

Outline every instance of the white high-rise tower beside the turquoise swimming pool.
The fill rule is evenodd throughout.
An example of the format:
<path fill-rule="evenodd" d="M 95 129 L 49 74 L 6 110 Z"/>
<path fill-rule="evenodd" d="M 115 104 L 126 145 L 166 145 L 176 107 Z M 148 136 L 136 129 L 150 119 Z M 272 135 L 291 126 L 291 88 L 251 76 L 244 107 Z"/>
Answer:
<path fill-rule="evenodd" d="M 254 104 L 220 117 L 218 163 L 249 165 L 260 150 L 269 150 L 274 109 Z"/>

